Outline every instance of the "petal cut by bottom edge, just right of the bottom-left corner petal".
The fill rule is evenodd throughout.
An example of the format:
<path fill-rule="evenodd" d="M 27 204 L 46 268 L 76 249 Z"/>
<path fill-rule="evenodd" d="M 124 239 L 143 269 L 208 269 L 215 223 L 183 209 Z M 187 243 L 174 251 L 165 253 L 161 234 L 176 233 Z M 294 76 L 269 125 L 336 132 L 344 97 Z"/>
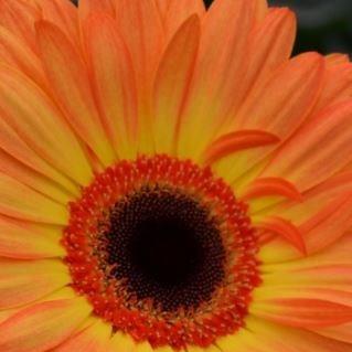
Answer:
<path fill-rule="evenodd" d="M 72 337 L 53 352 L 107 352 L 111 327 L 100 320 Z"/>

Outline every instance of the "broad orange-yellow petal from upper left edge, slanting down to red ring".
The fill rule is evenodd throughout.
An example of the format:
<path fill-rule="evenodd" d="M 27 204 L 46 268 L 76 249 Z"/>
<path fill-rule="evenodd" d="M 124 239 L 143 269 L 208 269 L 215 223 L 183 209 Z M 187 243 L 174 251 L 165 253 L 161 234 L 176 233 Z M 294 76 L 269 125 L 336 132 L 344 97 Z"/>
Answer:
<path fill-rule="evenodd" d="M 24 75 L 0 65 L 0 111 L 32 149 L 81 184 L 92 170 L 81 146 L 50 98 Z"/>

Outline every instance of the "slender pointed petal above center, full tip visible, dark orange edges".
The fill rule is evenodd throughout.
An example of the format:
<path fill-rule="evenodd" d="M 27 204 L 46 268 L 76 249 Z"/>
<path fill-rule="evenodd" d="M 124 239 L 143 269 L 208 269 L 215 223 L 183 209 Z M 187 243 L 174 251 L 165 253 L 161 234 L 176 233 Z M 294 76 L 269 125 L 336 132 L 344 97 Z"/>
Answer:
<path fill-rule="evenodd" d="M 200 20 L 192 15 L 177 31 L 161 58 L 154 82 L 152 114 L 158 152 L 174 152 L 175 129 L 192 78 L 199 41 Z"/>

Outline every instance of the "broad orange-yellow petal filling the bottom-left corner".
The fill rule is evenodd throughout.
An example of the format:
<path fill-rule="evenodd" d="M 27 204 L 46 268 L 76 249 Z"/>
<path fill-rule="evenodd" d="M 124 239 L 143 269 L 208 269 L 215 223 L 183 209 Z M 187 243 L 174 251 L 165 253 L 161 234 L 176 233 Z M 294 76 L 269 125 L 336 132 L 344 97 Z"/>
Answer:
<path fill-rule="evenodd" d="M 55 348 L 89 316 L 83 298 L 63 299 L 24 308 L 0 324 L 0 350 L 38 352 Z"/>

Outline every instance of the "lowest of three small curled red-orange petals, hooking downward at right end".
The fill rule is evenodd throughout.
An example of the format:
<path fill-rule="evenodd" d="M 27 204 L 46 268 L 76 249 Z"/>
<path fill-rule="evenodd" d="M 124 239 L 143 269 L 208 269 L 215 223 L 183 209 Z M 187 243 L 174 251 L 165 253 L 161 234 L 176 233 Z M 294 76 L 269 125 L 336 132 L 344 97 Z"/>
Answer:
<path fill-rule="evenodd" d="M 273 216 L 264 218 L 259 223 L 255 223 L 255 226 L 259 230 L 268 231 L 275 235 L 281 236 L 294 245 L 300 253 L 307 253 L 302 232 L 300 232 L 291 222 Z"/>

